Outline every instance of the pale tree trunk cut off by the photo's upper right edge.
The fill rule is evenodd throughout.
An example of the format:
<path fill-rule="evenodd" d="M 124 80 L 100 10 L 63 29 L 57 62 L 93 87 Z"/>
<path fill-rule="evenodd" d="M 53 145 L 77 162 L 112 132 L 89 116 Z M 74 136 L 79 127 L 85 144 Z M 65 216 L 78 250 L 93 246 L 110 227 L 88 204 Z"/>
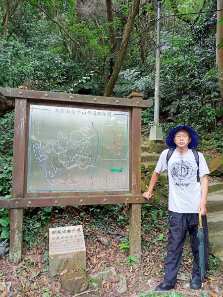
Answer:
<path fill-rule="evenodd" d="M 217 9 L 223 9 L 223 0 L 217 0 Z M 218 22 L 223 18 L 223 11 L 217 12 L 217 40 L 216 45 L 218 46 L 223 39 L 223 24 L 218 24 Z M 221 94 L 223 98 L 223 48 L 216 49 L 216 62 L 218 69 L 220 70 L 221 79 L 219 80 Z"/>

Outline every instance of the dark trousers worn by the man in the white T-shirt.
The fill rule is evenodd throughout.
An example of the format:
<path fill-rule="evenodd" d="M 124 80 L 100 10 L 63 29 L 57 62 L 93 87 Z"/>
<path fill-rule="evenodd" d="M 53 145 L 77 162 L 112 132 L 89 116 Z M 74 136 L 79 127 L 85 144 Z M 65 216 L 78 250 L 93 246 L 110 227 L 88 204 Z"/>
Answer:
<path fill-rule="evenodd" d="M 190 245 L 194 256 L 193 277 L 200 278 L 199 252 L 197 230 L 199 225 L 198 213 L 178 213 L 169 211 L 169 236 L 167 245 L 167 257 L 164 260 L 165 277 L 163 283 L 174 286 L 182 260 L 183 246 L 187 230 L 190 236 Z M 205 274 L 208 269 L 208 224 L 206 215 L 202 217 L 205 246 Z"/>

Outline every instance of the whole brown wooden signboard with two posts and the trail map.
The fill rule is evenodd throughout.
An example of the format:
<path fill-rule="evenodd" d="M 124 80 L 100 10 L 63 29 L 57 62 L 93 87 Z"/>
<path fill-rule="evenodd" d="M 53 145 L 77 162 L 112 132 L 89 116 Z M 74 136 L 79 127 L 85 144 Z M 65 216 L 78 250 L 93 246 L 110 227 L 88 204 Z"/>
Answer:
<path fill-rule="evenodd" d="M 23 207 L 129 203 L 141 259 L 141 109 L 153 101 L 0 88 L 15 99 L 10 261 L 22 254 Z"/>

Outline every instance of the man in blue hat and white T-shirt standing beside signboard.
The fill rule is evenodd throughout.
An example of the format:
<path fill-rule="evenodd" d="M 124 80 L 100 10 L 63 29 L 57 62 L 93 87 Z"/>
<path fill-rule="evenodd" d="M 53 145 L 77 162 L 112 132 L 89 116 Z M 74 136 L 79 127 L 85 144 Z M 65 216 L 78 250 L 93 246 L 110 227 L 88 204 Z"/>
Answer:
<path fill-rule="evenodd" d="M 198 152 L 199 163 L 191 148 L 198 145 L 198 134 L 188 126 L 172 128 L 166 139 L 167 146 L 174 148 L 171 157 L 167 159 L 169 149 L 165 149 L 159 158 L 151 177 L 148 190 L 143 194 L 148 200 L 152 197 L 154 186 L 162 172 L 168 172 L 169 194 L 169 236 L 167 257 L 164 261 L 165 277 L 155 291 L 173 289 L 182 260 L 182 251 L 187 230 L 194 256 L 190 288 L 201 288 L 199 272 L 199 252 L 197 230 L 199 213 L 202 214 L 202 225 L 205 238 L 205 269 L 208 268 L 208 227 L 206 218 L 206 203 L 208 195 L 209 169 L 202 153 Z M 199 168 L 198 168 L 199 166 Z M 199 170 L 199 176 L 198 175 Z"/>

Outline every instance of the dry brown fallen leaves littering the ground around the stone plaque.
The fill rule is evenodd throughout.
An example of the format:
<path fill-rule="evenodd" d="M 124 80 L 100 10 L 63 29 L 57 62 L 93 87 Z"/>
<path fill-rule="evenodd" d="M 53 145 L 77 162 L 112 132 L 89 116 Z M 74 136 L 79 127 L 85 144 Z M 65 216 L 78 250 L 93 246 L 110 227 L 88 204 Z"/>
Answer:
<path fill-rule="evenodd" d="M 77 216 L 75 212 L 72 216 Z M 72 216 L 69 220 L 72 222 Z M 59 218 L 58 218 L 59 220 Z M 94 218 L 86 213 L 82 221 L 91 222 L 94 225 Z M 70 224 L 70 221 L 64 219 L 64 225 Z M 56 219 L 54 218 L 54 223 Z M 61 222 L 61 220 L 60 220 Z M 145 222 L 144 222 L 145 223 Z M 51 222 L 48 226 L 52 227 Z M 117 275 L 123 275 L 127 281 L 127 292 L 122 297 L 134 297 L 148 290 L 154 290 L 162 282 L 163 260 L 167 253 L 167 230 L 163 228 L 164 240 L 156 241 L 161 231 L 155 227 L 142 236 L 142 263 L 138 267 L 129 265 L 126 259 L 127 252 L 122 252 L 119 247 L 128 234 L 127 224 L 119 226 L 115 220 L 110 218 L 107 222 L 110 229 L 103 226 L 96 226 L 88 229 L 85 234 L 86 254 L 87 254 L 87 272 L 93 274 L 114 267 Z M 112 228 L 111 228 L 112 226 Z M 101 228 L 100 228 L 101 227 Z M 97 230 L 96 230 L 97 228 Z M 104 229 L 103 229 L 104 228 Z M 90 232 L 91 231 L 91 232 Z M 110 232 L 110 233 L 109 233 Z M 102 240 L 103 239 L 103 240 Z M 106 241 L 104 241 L 106 239 Z M 43 240 L 46 240 L 45 238 Z M 106 243 L 109 242 L 109 245 Z M 103 244 L 104 243 L 104 244 Z M 46 253 L 48 252 L 48 243 L 43 247 L 33 247 L 30 250 L 23 250 L 23 260 L 17 265 L 9 263 L 8 257 L 0 259 L 0 293 L 1 297 L 70 297 L 71 295 L 61 289 L 59 275 L 50 276 Z M 149 245 L 146 248 L 146 245 Z M 189 244 L 184 246 L 183 265 L 180 272 L 188 274 L 192 271 L 192 260 Z M 65 271 L 61 272 L 65 273 Z M 177 280 L 176 289 L 183 292 L 194 291 L 188 288 L 189 280 Z M 2 285 L 3 284 L 3 285 Z M 102 286 L 97 293 L 100 297 L 117 297 L 118 279 L 110 278 L 103 280 Z M 7 289 L 7 290 L 6 290 Z M 221 297 L 223 292 L 223 273 L 217 271 L 215 275 L 208 274 L 205 279 L 205 289 L 208 290 L 211 297 Z M 6 292 L 7 291 L 7 292 Z M 96 293 L 94 293 L 96 294 Z"/>

